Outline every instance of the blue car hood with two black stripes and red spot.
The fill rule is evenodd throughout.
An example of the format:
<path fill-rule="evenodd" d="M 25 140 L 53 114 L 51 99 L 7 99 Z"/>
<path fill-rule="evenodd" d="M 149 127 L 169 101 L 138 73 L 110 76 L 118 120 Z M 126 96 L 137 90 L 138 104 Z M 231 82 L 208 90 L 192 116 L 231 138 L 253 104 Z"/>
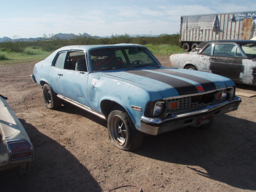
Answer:
<path fill-rule="evenodd" d="M 206 72 L 160 67 L 157 69 L 105 72 L 106 76 L 122 79 L 136 86 L 147 86 L 163 98 L 210 92 L 234 86 L 232 80 Z"/>

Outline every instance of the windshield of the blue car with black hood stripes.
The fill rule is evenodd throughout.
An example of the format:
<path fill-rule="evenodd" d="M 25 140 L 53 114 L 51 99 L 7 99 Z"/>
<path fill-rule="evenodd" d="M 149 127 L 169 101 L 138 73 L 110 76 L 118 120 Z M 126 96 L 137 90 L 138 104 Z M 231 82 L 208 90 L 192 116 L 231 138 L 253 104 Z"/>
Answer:
<path fill-rule="evenodd" d="M 90 51 L 90 61 L 93 71 L 160 65 L 144 47 L 94 49 Z"/>

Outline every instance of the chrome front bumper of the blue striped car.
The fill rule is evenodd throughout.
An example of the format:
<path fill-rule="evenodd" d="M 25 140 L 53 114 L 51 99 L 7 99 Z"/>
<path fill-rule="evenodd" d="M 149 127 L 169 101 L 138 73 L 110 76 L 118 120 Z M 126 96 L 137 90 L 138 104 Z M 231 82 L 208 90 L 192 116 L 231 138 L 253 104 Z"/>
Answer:
<path fill-rule="evenodd" d="M 236 96 L 232 99 L 214 103 L 212 105 L 205 106 L 200 110 L 174 113 L 166 118 L 148 118 L 142 116 L 140 120 L 140 131 L 158 135 L 160 133 L 168 132 L 171 130 L 187 127 L 187 126 L 198 126 L 198 119 L 212 115 L 226 114 L 230 111 L 238 109 L 238 106 L 242 102 L 241 98 Z"/>

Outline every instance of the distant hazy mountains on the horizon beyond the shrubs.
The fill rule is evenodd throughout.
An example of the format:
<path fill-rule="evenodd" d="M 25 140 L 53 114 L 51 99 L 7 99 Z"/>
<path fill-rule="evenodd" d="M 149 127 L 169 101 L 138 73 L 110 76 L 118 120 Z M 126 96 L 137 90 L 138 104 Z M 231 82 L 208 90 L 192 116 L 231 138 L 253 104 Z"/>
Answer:
<path fill-rule="evenodd" d="M 70 33 L 70 34 L 59 33 L 59 34 L 55 34 L 54 36 L 52 36 L 52 38 L 53 39 L 59 38 L 61 40 L 69 40 L 69 39 L 74 38 L 75 36 L 76 35 L 73 34 L 73 33 Z M 88 33 L 84 33 L 84 34 L 82 34 L 82 36 L 89 37 L 90 35 Z M 130 37 L 136 37 L 138 35 L 129 35 L 129 36 Z M 142 35 L 139 35 L 139 36 L 150 36 L 150 35 L 142 34 Z M 102 36 L 102 37 L 99 37 L 99 38 L 108 38 L 108 37 L 111 37 L 111 36 Z M 23 41 L 23 42 L 31 42 L 31 41 L 44 40 L 44 38 L 43 37 L 37 37 L 37 38 L 18 38 L 17 40 L 18 41 Z M 0 38 L 0 42 L 5 42 L 5 41 L 14 41 L 14 40 L 12 38 L 9 38 L 9 37 Z"/>

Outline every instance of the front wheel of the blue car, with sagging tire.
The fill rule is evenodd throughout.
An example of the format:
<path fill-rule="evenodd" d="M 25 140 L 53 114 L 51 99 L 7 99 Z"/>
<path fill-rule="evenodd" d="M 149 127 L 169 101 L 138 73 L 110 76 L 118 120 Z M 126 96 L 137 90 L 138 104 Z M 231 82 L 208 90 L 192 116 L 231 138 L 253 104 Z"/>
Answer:
<path fill-rule="evenodd" d="M 138 150 L 142 145 L 143 135 L 135 128 L 123 108 L 113 108 L 108 115 L 108 136 L 114 146 L 125 151 Z"/>

